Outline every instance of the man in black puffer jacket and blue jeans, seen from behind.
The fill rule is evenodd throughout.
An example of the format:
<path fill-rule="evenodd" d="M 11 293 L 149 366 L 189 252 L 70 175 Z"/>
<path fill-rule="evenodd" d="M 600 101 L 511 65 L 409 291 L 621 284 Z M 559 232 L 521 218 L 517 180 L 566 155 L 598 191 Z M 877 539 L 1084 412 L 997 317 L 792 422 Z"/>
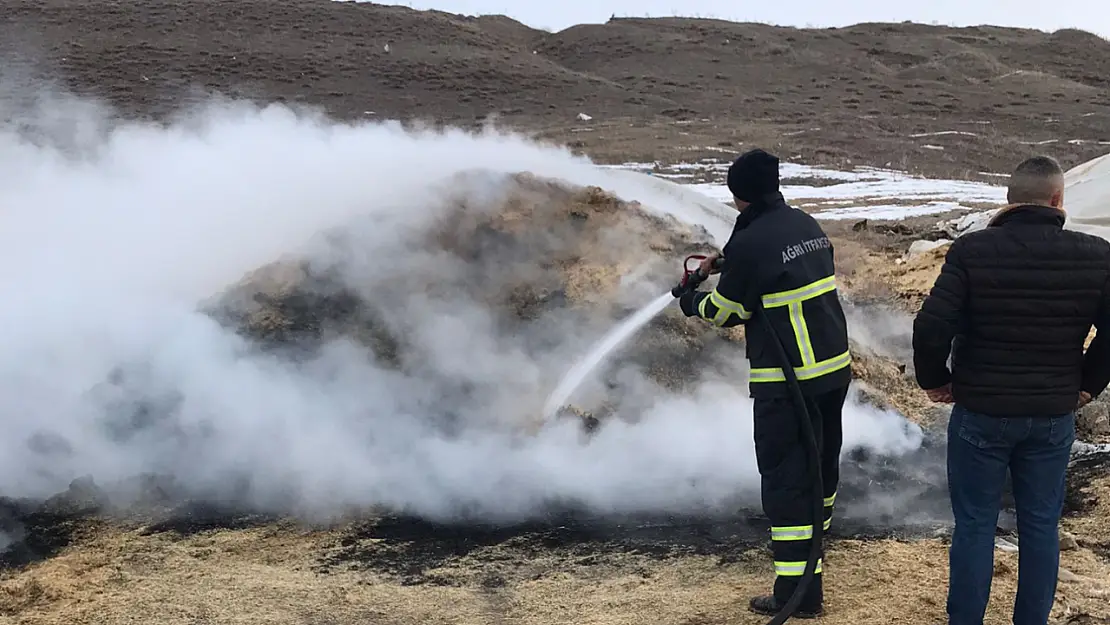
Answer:
<path fill-rule="evenodd" d="M 1063 171 L 1048 157 L 1015 170 L 1008 201 L 952 243 L 914 321 L 918 384 L 955 402 L 949 625 L 982 623 L 1007 470 L 1021 540 L 1013 623 L 1047 623 L 1074 413 L 1110 383 L 1110 242 L 1063 229 Z"/>

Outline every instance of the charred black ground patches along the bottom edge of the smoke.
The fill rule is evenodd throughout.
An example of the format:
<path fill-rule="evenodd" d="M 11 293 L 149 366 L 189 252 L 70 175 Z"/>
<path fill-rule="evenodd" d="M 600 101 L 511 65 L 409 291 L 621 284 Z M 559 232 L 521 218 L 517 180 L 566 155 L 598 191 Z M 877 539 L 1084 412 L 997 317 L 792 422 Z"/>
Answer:
<path fill-rule="evenodd" d="M 838 512 L 830 543 L 838 540 L 916 540 L 946 536 L 950 526 L 944 480 L 944 442 L 930 438 L 900 458 L 850 453 L 842 463 Z M 1066 515 L 1088 514 L 1091 477 L 1110 470 L 1110 453 L 1077 458 L 1068 478 Z M 94 487 L 83 484 L 46 502 L 0 500 L 0 532 L 12 544 L 0 554 L 0 569 L 19 568 L 56 555 L 93 524 L 120 518 Z M 889 513 L 881 512 L 889 497 Z M 1010 502 L 999 533 L 1013 528 Z M 125 517 L 124 517 L 125 518 Z M 141 533 L 188 536 L 219 530 L 272 524 L 273 514 L 229 504 L 184 502 L 147 523 Z M 769 523 L 757 510 L 728 516 L 632 515 L 599 517 L 562 512 L 518 524 L 435 523 L 415 516 L 384 515 L 347 526 L 335 547 L 321 556 L 319 571 L 352 568 L 385 574 L 403 584 L 451 583 L 433 569 L 461 558 L 478 562 L 526 562 L 545 555 L 587 565 L 614 554 L 650 558 L 707 555 L 734 562 L 767 544 Z M 1110 558 L 1110 541 L 1084 544 Z M 490 548 L 500 547 L 500 548 Z M 512 564 L 512 562 L 509 562 Z M 491 581 L 494 583 L 495 581 Z"/>

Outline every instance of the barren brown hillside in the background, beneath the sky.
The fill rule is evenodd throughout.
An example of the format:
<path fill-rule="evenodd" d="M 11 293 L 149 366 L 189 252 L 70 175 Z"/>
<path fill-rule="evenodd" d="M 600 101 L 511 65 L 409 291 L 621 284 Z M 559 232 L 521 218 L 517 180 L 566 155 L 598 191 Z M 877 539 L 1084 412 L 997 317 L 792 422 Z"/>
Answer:
<path fill-rule="evenodd" d="M 57 72 L 134 113 L 215 90 L 345 119 L 496 113 L 603 159 L 758 142 L 810 162 L 968 177 L 1035 149 L 1077 164 L 1110 141 L 1110 42 L 1076 30 L 614 19 L 548 33 L 330 0 L 0 10 L 7 73 Z"/>

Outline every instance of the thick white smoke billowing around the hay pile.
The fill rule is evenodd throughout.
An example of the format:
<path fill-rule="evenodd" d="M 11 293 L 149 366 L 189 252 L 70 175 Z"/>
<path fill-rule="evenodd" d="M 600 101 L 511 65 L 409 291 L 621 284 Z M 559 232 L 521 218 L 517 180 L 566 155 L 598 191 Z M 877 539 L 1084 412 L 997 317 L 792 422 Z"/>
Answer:
<path fill-rule="evenodd" d="M 675 396 L 626 373 L 643 413 L 588 440 L 569 421 L 534 437 L 498 427 L 537 414 L 603 329 L 553 320 L 558 341 L 537 354 L 498 330 L 468 284 L 452 284 L 462 269 L 411 245 L 460 196 L 495 205 L 503 174 L 616 180 L 586 159 L 494 132 L 344 125 L 226 102 L 169 127 L 71 99 L 0 113 L 0 494 L 161 472 L 196 492 L 246 481 L 256 503 L 323 515 L 377 505 L 515 518 L 556 502 L 610 513 L 757 501 L 739 374 Z M 487 174 L 458 178 L 473 170 Z M 627 179 L 612 187 L 674 204 Z M 317 236 L 332 229 L 356 252 L 346 279 L 423 355 L 415 367 L 391 370 L 343 340 L 310 361 L 268 355 L 198 312 L 261 265 L 333 253 Z M 452 305 L 397 274 L 435 274 Z M 736 371 L 743 357 L 737 350 Z M 129 400 L 103 383 L 129 363 L 141 363 L 129 384 L 173 416 L 113 432 L 112 406 Z M 916 446 L 896 415 L 855 400 L 846 410 L 846 446 Z"/>

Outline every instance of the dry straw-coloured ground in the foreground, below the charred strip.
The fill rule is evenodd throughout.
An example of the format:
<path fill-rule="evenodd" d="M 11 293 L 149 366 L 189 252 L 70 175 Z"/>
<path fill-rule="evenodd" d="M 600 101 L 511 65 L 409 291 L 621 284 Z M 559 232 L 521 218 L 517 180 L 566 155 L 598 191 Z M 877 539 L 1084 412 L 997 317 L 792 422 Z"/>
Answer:
<path fill-rule="evenodd" d="M 1110 492 L 1110 483 L 1100 488 Z M 1106 494 L 1106 493 L 1103 493 Z M 1106 531 L 1106 505 L 1099 530 Z M 1096 523 L 1096 522 L 1092 522 Z M 1072 530 L 1081 530 L 1072 524 Z M 519 565 L 502 553 L 462 557 L 403 585 L 360 571 L 319 572 L 339 531 L 272 526 L 185 538 L 103 527 L 48 562 L 0 581 L 0 622 L 20 625 L 756 625 L 746 598 L 766 589 L 768 557 L 656 560 L 602 554 L 582 562 L 558 551 Z M 947 547 L 940 540 L 841 541 L 827 556 L 830 625 L 942 623 Z M 1110 562 L 1063 553 L 1056 616 L 1110 617 Z M 1009 623 L 1017 558 L 996 556 L 987 623 Z"/>

